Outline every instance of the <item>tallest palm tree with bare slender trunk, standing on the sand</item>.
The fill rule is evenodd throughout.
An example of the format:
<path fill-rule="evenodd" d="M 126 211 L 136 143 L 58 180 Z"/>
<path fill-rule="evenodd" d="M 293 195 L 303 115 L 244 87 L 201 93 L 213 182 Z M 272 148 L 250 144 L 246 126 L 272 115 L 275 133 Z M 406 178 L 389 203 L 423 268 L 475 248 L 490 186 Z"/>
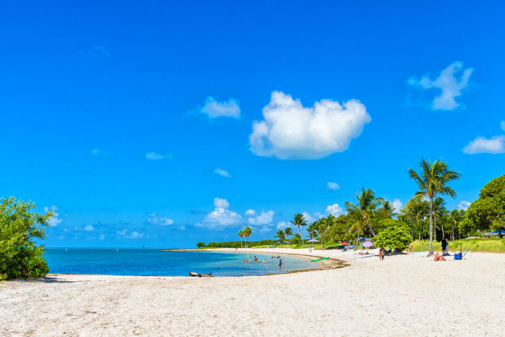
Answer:
<path fill-rule="evenodd" d="M 457 180 L 461 177 L 461 173 L 451 170 L 449 165 L 442 159 L 438 159 L 433 164 L 431 161 L 421 159 L 419 161 L 420 174 L 413 168 L 409 168 L 411 179 L 414 179 L 419 191 L 415 196 L 407 202 L 407 205 L 419 203 L 422 199 L 430 201 L 430 253 L 428 256 L 433 256 L 433 198 L 436 195 L 456 197 L 456 191 L 447 184 L 451 180 Z"/>

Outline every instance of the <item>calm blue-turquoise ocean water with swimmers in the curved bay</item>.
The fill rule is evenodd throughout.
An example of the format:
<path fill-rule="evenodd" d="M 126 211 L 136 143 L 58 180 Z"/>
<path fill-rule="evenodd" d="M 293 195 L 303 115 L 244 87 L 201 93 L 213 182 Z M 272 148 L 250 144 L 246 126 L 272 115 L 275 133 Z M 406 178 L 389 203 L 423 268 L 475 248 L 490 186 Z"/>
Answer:
<path fill-rule="evenodd" d="M 250 257 L 247 258 L 247 254 Z M 50 273 L 188 276 L 188 271 L 212 273 L 214 276 L 246 276 L 283 273 L 290 270 L 317 268 L 318 262 L 310 262 L 291 256 L 236 252 L 161 252 L 160 249 L 86 249 L 49 248 L 45 258 Z M 268 262 L 261 262 L 266 259 Z M 189 277 L 189 276 L 188 276 Z"/>

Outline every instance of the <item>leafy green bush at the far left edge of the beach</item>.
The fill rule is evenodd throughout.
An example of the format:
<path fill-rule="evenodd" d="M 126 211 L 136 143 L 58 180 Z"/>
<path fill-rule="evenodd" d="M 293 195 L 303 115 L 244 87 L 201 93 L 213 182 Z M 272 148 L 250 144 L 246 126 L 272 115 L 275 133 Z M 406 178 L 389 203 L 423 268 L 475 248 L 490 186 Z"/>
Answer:
<path fill-rule="evenodd" d="M 0 279 L 41 277 L 49 271 L 43 258 L 47 221 L 53 212 L 33 213 L 33 202 L 0 198 Z"/>

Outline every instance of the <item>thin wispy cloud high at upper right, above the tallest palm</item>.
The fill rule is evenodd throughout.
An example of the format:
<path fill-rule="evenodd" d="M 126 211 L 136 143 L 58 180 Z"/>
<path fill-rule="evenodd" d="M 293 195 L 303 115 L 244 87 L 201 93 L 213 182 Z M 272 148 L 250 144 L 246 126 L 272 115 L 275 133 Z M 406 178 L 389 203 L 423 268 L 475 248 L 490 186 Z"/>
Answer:
<path fill-rule="evenodd" d="M 420 80 L 411 77 L 408 80 L 408 83 L 420 86 L 424 89 L 441 89 L 442 92 L 439 96 L 435 97 L 431 104 L 432 109 L 453 110 L 460 106 L 460 104 L 456 102 L 455 98 L 461 96 L 461 90 L 468 86 L 468 79 L 473 71 L 473 68 L 467 68 L 463 71 L 460 78 L 457 78 L 456 75 L 462 70 L 462 68 L 463 63 L 456 61 L 442 70 L 440 72 L 440 76 L 433 81 L 426 76 Z"/>

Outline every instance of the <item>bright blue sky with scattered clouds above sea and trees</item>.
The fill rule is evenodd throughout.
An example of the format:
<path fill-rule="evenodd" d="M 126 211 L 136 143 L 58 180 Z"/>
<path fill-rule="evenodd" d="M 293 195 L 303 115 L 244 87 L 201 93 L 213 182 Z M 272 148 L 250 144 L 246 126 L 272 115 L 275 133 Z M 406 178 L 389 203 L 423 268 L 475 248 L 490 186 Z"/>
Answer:
<path fill-rule="evenodd" d="M 407 169 L 503 174 L 492 2 L 10 2 L 0 22 L 0 196 L 53 209 L 48 247 L 194 247 L 399 206 Z M 466 202 L 466 203 L 465 203 Z"/>

